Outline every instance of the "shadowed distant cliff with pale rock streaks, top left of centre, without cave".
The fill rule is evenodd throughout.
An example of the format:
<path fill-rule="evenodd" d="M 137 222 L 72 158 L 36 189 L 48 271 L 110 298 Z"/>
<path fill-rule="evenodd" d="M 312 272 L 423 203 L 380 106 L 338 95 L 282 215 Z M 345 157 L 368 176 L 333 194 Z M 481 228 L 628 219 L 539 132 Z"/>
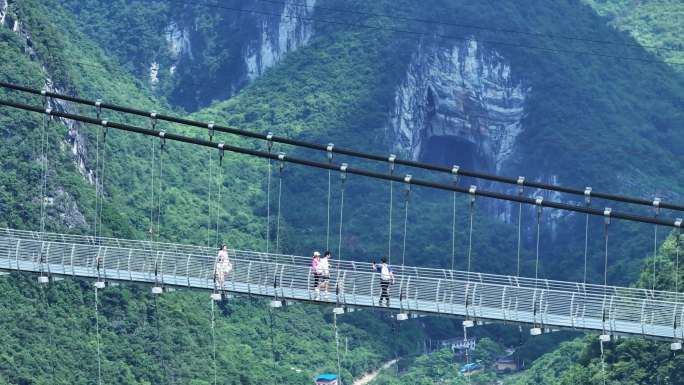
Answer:
<path fill-rule="evenodd" d="M 170 101 L 189 110 L 230 98 L 289 52 L 308 44 L 315 4 L 286 0 L 274 9 L 273 4 L 264 7 L 247 0 L 241 9 L 254 12 L 222 13 L 218 29 L 199 26 L 197 18 L 205 16 L 176 15 L 165 29 L 166 53 L 149 64 L 149 82 L 153 87 L 170 83 Z M 195 102 L 187 103 L 188 97 Z"/>

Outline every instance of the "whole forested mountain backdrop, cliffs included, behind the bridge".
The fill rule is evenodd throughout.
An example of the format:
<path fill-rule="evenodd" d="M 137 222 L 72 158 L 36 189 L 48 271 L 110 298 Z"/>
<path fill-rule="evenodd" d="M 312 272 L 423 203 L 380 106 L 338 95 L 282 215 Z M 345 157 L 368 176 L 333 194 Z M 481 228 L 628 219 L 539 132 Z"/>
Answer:
<path fill-rule="evenodd" d="M 257 132 L 681 202 L 684 190 L 678 182 L 684 177 L 684 136 L 678 124 L 684 117 L 684 78 L 681 66 L 663 62 L 681 57 L 682 22 L 677 12 L 681 13 L 681 5 L 667 1 L 0 0 L 0 79 Z M 43 102 L 6 90 L 0 90 L 0 97 L 35 105 Z M 49 103 L 60 110 L 95 113 L 68 103 Z M 151 124 L 148 119 L 107 111 L 103 116 L 144 127 Z M 93 233 L 94 185 L 99 179 L 104 180 L 105 191 L 102 234 L 148 237 L 153 227 L 150 209 L 155 205 L 151 195 L 159 193 L 151 180 L 158 177 L 152 167 L 157 142 L 110 131 L 105 144 L 97 139 L 100 128 L 53 121 L 48 151 L 43 154 L 41 124 L 40 116 L 2 108 L 0 226 L 38 228 L 39 160 L 47 155 L 49 231 Z M 206 137 L 198 129 L 166 123 L 158 127 Z M 216 140 L 265 148 L 261 142 L 230 135 Z M 104 152 L 96 156 L 96 148 Z M 276 146 L 275 151 L 325 160 L 322 154 L 287 146 Z M 218 238 L 234 247 L 263 250 L 267 164 L 226 154 L 220 174 L 217 155 L 167 145 L 162 155 L 163 190 L 158 195 L 161 223 L 153 236 L 211 246 Z M 335 161 L 387 171 L 385 166 L 344 157 Z M 421 174 L 401 168 L 397 172 Z M 450 180 L 449 176 L 434 178 Z M 281 250 L 308 254 L 325 248 L 327 173 L 286 166 L 283 182 Z M 330 248 L 342 258 L 363 261 L 386 254 L 388 186 L 361 177 L 346 182 L 338 250 L 340 182 L 334 174 L 332 182 L 335 215 Z M 461 181 L 470 183 L 515 191 Z M 411 194 L 408 263 L 449 266 L 451 195 L 421 189 Z M 572 203 L 582 199 L 544 196 Z M 395 199 L 393 221 L 400 224 L 403 197 Z M 602 204 L 594 202 L 596 207 Z M 455 262 L 463 268 L 466 198 L 458 199 L 457 205 Z M 476 207 L 473 269 L 513 272 L 517 207 L 485 199 L 478 200 Z M 652 215 L 648 208 L 641 213 Z M 535 213 L 526 209 L 523 215 L 523 275 L 531 275 Z M 542 219 L 540 276 L 580 278 L 584 218 L 545 210 Z M 636 282 L 653 247 L 652 228 L 617 222 L 611 231 L 615 241 L 609 280 L 623 285 Z M 665 236 L 661 231 L 659 241 Z M 389 240 L 392 255 L 404 251 L 402 240 L 402 226 L 396 225 Z M 602 228 L 597 219 L 591 223 L 590 281 L 603 277 L 601 253 Z M 3 297 L 5 310 L 0 309 L 6 326 L 3 340 L 12 343 L 0 353 L 0 380 L 73 383 L 83 374 L 83 382 L 92 382 L 85 372 L 74 372 L 78 362 L 93 352 L 92 293 L 85 284 L 60 282 L 48 289 L 51 315 L 40 315 L 42 294 L 28 278 L 12 275 L 2 280 L 3 293 L 9 293 Z M 158 353 L 152 348 L 153 304 L 144 292 L 122 287 L 103 293 L 104 346 L 112 347 L 105 353 L 109 381 L 209 381 L 208 369 L 195 369 L 209 365 L 205 295 L 179 292 L 161 300 L 165 350 Z M 9 304 L 17 306 L 12 309 Z M 219 329 L 228 338 L 226 346 L 230 345 L 219 355 L 220 369 L 227 376 L 223 383 L 262 383 L 267 378 L 270 345 L 262 306 L 236 300 L 220 309 Z M 281 324 L 292 329 L 276 331 L 276 345 L 281 346 L 276 371 L 290 383 L 306 381 L 305 377 L 326 367 L 333 347 L 330 317 L 324 310 L 299 306 L 280 315 L 285 320 Z M 129 311 L 137 313 L 125 317 Z M 59 314 L 69 316 L 54 323 Z M 323 326 L 310 337 L 297 334 L 305 329 L 299 325 L 309 321 Z M 31 333 L 26 326 L 31 322 L 40 326 L 39 333 Z M 400 329 L 401 337 L 391 338 L 393 324 L 374 314 L 355 314 L 343 319 L 343 324 L 342 334 L 358 341 L 344 365 L 354 375 L 397 349 L 413 353 L 423 333 L 418 322 L 409 323 Z M 251 334 L 249 325 L 255 326 L 256 334 Z M 62 343 L 48 349 L 44 345 L 48 330 Z M 282 348 L 303 344 L 306 338 L 298 354 Z M 317 355 L 314 346 L 325 346 L 326 358 L 312 363 L 310 357 Z M 586 346 L 582 359 L 594 362 L 593 344 Z M 135 358 L 127 361 L 113 347 L 130 351 Z M 175 351 L 184 354 L 172 354 Z M 56 374 L 48 373 L 49 362 L 35 359 L 35 352 L 64 362 L 50 363 Z M 177 372 L 162 375 L 164 360 L 158 354 Z M 186 355 L 193 358 L 184 361 Z M 247 370 L 240 366 L 243 362 L 235 362 L 238 357 L 252 357 L 251 376 L 236 377 Z M 92 357 L 88 358 L 91 365 Z M 573 365 L 577 360 L 579 353 L 573 356 Z M 148 365 L 154 369 L 146 373 Z M 302 367 L 306 376 L 290 367 Z M 614 378 L 627 381 L 627 377 Z M 644 378 L 652 377 L 632 381 L 648 383 Z"/>

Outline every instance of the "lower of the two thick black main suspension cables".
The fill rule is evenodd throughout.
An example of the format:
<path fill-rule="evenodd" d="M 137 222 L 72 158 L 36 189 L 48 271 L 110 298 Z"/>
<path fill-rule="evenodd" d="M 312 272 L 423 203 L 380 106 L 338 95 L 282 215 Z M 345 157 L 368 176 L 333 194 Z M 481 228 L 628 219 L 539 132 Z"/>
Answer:
<path fill-rule="evenodd" d="M 7 100 L 0 100 L 0 105 L 12 107 L 12 108 L 18 108 L 18 109 L 22 109 L 22 110 L 26 110 L 26 111 L 37 112 L 37 113 L 46 113 L 46 111 L 41 109 L 40 107 L 29 106 L 26 104 L 11 102 L 11 101 L 7 101 Z M 161 134 L 159 131 L 149 130 L 149 129 L 136 127 L 136 126 L 132 126 L 132 125 L 128 125 L 128 124 L 122 124 L 122 123 L 98 121 L 94 118 L 76 115 L 76 114 L 70 114 L 70 113 L 66 113 L 66 112 L 50 111 L 50 115 L 61 117 L 64 119 L 80 121 L 80 122 L 84 122 L 84 123 L 100 124 L 103 126 L 106 125 L 107 127 L 116 128 L 116 129 L 123 130 L 123 131 L 135 132 L 135 133 L 143 134 L 143 135 L 159 136 Z M 182 136 L 182 135 L 178 135 L 178 134 L 171 134 L 171 133 L 163 133 L 163 134 L 164 134 L 164 137 L 166 139 L 169 139 L 169 140 L 174 140 L 174 141 L 178 141 L 178 142 L 189 143 L 189 144 L 194 144 L 194 145 L 199 145 L 199 146 L 204 146 L 204 147 L 218 148 L 218 145 L 216 143 L 212 143 L 212 142 L 209 142 L 207 140 L 198 139 L 198 138 L 190 138 L 190 137 L 186 137 L 186 136 Z M 239 154 L 245 154 L 245 155 L 250 155 L 250 156 L 255 156 L 255 157 L 260 157 L 260 158 L 276 159 L 276 156 L 274 154 L 268 154 L 268 153 L 263 152 L 263 151 L 253 150 L 253 149 L 249 149 L 249 148 L 237 147 L 237 146 L 232 146 L 232 145 L 226 144 L 224 146 L 224 149 L 227 151 L 231 151 L 231 152 L 235 152 L 235 153 L 239 153 Z M 294 157 L 284 158 L 284 161 L 289 162 L 289 163 L 294 163 L 294 164 L 300 164 L 300 165 L 307 166 L 307 167 L 325 169 L 325 170 L 328 170 L 331 168 L 332 169 L 338 169 L 339 168 L 339 165 L 336 165 L 336 164 L 331 165 L 328 163 L 321 163 L 321 162 L 316 162 L 316 161 L 312 161 L 312 160 L 308 160 L 308 159 L 301 159 L 301 158 L 294 158 Z M 384 174 L 384 173 L 378 173 L 378 172 L 374 172 L 374 171 L 370 171 L 370 170 L 366 170 L 366 169 L 348 167 L 347 172 L 350 174 L 362 175 L 362 176 L 366 176 L 366 177 L 374 178 L 374 179 L 381 179 L 381 180 L 387 180 L 387 181 L 393 180 L 395 182 L 403 182 L 403 177 L 388 175 L 388 174 Z M 417 186 L 429 187 L 429 188 L 434 188 L 434 189 L 439 189 L 439 190 L 468 193 L 468 189 L 465 189 L 465 188 L 462 188 L 459 186 L 453 186 L 451 184 L 437 183 L 437 182 L 420 180 L 420 179 L 412 179 L 411 183 L 414 185 L 417 185 Z M 494 191 L 487 191 L 487 190 L 479 190 L 478 189 L 476 192 L 476 195 L 488 197 L 488 198 L 493 198 L 493 199 L 497 199 L 497 200 L 510 201 L 510 202 L 521 202 L 521 203 L 530 204 L 530 205 L 535 204 L 535 200 L 531 199 L 531 198 L 519 197 L 519 196 L 515 196 L 515 195 L 509 195 L 509 194 L 504 194 L 504 193 L 499 193 L 499 192 L 494 192 Z M 594 195 L 596 195 L 596 194 L 594 194 Z M 603 212 L 601 210 L 587 208 L 587 207 L 583 207 L 583 206 L 576 206 L 576 205 L 566 204 L 566 203 L 544 201 L 542 203 L 542 205 L 544 207 L 549 207 L 549 208 L 554 208 L 554 209 L 559 209 L 559 210 L 579 212 L 579 213 L 584 213 L 584 214 L 589 213 L 591 215 L 596 215 L 596 216 L 603 215 Z M 661 207 L 665 207 L 665 205 L 661 204 Z M 622 212 L 613 212 L 612 216 L 613 216 L 613 218 L 616 218 L 616 219 L 624 219 L 624 220 L 628 220 L 628 221 L 632 221 L 632 222 L 650 223 L 650 224 L 658 224 L 659 226 L 676 227 L 674 220 L 669 220 L 669 219 L 646 217 L 646 216 L 629 214 L 629 213 L 622 213 Z"/>

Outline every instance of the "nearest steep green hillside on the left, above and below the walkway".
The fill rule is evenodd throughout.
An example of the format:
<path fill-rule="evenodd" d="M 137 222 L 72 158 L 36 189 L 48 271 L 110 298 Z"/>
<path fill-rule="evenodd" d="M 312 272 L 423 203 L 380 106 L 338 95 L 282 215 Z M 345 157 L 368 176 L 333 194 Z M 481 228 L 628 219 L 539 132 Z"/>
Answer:
<path fill-rule="evenodd" d="M 165 109 L 163 101 L 150 96 L 149 88 L 119 69 L 103 50 L 78 32 L 72 19 L 58 5 L 38 1 L 12 3 L 8 13 L 3 15 L 6 16 L 0 26 L 3 80 L 37 88 L 47 83 L 59 92 L 141 108 Z M 60 38 L 56 40 L 54 36 Z M 5 90 L 0 91 L 0 95 L 37 105 L 42 102 L 39 98 L 26 98 Z M 50 105 L 94 114 L 92 110 L 54 101 L 50 101 Z M 121 119 L 106 112 L 104 116 L 111 120 Z M 4 108 L 0 119 L 3 142 L 0 226 L 37 229 L 41 201 L 38 186 L 42 119 Z M 144 120 L 132 122 L 149 124 Z M 102 234 L 145 237 L 150 208 L 150 142 L 141 143 L 138 137 L 110 131 L 104 153 L 105 171 L 97 172 L 97 130 L 55 121 L 48 132 L 47 229 L 92 233 L 94 181 L 102 177 L 105 180 Z M 100 149 L 103 146 L 100 139 Z M 156 236 L 204 243 L 207 238 L 208 153 L 173 144 L 169 144 L 168 149 L 174 158 L 184 161 L 168 162 L 164 166 L 164 175 L 168 178 L 163 184 L 165 210 L 162 231 Z M 100 162 L 103 156 L 101 153 Z M 254 196 L 263 196 L 260 179 L 265 166 L 230 154 L 224 163 L 226 174 L 231 177 L 226 178 L 223 193 L 224 197 L 232 198 L 221 205 L 223 218 L 228 217 L 227 213 L 230 215 L 226 220 L 230 227 L 223 224 L 221 238 L 225 236 L 231 244 L 240 247 L 261 247 L 260 229 L 264 226 L 259 223 L 263 221 L 242 205 L 260 209 L 254 202 L 263 200 Z M 250 175 L 254 170 L 259 171 L 259 176 Z M 214 194 L 218 188 L 216 173 L 214 169 Z M 212 244 L 213 237 L 212 232 Z M 46 293 L 42 293 L 33 277 L 11 275 L 2 276 L 0 280 L 3 286 L 0 325 L 5 341 L 0 353 L 0 382 L 93 382 L 96 373 L 94 304 L 89 285 L 63 281 L 52 284 Z M 212 362 L 206 293 L 169 293 L 160 300 L 158 334 L 162 342 L 157 344 L 156 313 L 152 310 L 148 290 L 132 286 L 108 288 L 100 293 L 105 381 L 210 383 Z M 47 295 L 47 302 L 43 294 Z M 273 366 L 270 320 L 265 305 L 242 299 L 222 304 L 217 310 L 216 330 L 219 378 L 231 384 L 262 383 L 272 378 L 272 368 L 275 368 L 275 375 L 282 383 L 294 384 L 308 381 L 321 370 L 332 370 L 330 349 L 334 345 L 329 314 L 329 309 L 305 305 L 277 313 L 273 334 L 277 363 Z M 401 331 L 393 332 L 391 323 L 382 321 L 380 316 L 363 313 L 358 317 L 340 320 L 341 335 L 349 341 L 349 355 L 343 361 L 343 375 L 347 378 L 394 355 L 396 349 L 407 351 L 399 348 L 403 342 L 395 344 L 397 338 L 409 344 L 406 347 L 416 346 L 412 338 L 417 338 L 420 331 L 413 326 L 406 325 Z M 364 325 L 366 331 L 358 325 Z M 413 337 L 406 338 L 404 334 Z M 391 339 L 392 335 L 397 338 Z M 302 371 L 292 371 L 291 366 Z"/>

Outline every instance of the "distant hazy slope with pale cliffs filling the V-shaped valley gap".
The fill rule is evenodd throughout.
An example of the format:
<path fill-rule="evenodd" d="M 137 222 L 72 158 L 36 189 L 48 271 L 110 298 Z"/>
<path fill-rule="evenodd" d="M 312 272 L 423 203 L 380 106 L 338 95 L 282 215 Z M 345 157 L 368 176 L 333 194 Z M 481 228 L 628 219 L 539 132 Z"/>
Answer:
<path fill-rule="evenodd" d="M 308 44 L 315 0 L 61 0 L 81 29 L 189 111 L 237 94 Z"/>

